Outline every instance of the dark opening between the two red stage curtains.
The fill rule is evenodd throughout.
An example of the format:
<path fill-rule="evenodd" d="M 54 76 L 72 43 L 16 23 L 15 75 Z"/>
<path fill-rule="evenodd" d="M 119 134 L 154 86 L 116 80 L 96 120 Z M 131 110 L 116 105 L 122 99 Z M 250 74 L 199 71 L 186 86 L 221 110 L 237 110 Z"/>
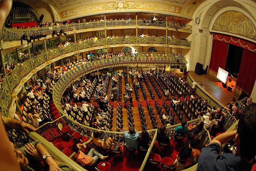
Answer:
<path fill-rule="evenodd" d="M 236 45 L 228 44 L 228 57 L 225 66 L 225 70 L 232 74 L 233 77 L 237 77 L 239 73 L 241 60 L 242 60 L 243 48 Z"/>

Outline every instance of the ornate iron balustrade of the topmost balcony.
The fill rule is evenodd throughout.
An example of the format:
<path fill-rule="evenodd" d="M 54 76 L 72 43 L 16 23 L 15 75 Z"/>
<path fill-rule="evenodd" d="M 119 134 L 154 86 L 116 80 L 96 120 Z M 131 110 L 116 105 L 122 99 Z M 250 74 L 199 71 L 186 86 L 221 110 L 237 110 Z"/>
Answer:
<path fill-rule="evenodd" d="M 144 20 L 137 20 L 138 26 L 156 26 L 156 27 L 166 27 L 166 22 L 151 22 L 151 20 L 144 21 Z M 136 26 L 136 20 L 117 20 L 117 21 L 106 21 L 106 29 L 108 27 L 121 27 L 121 26 L 131 26 L 131 28 L 135 28 Z M 192 26 L 185 25 L 180 26 L 178 23 L 173 22 L 167 22 L 167 28 L 168 29 L 180 29 L 184 31 L 192 31 Z M 102 28 L 104 30 L 105 28 L 105 22 L 99 21 L 99 22 L 86 22 L 86 23 L 76 23 L 76 24 L 68 24 L 68 25 L 60 25 L 60 26 L 45 26 L 45 27 L 38 27 L 38 28 L 28 28 L 28 29 L 11 29 L 3 27 L 3 29 L 0 32 L 0 40 L 3 41 L 14 41 L 14 40 L 20 40 L 23 34 L 27 34 L 28 37 L 36 35 L 36 34 L 52 34 L 53 31 L 56 31 L 57 33 L 60 32 L 60 30 L 64 30 L 64 32 L 70 32 L 74 30 L 86 30 L 86 29 L 93 29 L 93 28 Z M 110 28 L 109 28 L 110 29 Z"/>

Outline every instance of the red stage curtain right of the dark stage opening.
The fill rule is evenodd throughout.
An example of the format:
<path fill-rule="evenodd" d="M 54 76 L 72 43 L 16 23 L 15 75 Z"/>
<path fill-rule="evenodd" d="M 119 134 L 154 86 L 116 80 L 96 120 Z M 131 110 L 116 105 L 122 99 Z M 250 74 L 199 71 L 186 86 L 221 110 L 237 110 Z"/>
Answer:
<path fill-rule="evenodd" d="M 242 61 L 236 85 L 251 95 L 256 79 L 256 54 L 243 49 Z"/>

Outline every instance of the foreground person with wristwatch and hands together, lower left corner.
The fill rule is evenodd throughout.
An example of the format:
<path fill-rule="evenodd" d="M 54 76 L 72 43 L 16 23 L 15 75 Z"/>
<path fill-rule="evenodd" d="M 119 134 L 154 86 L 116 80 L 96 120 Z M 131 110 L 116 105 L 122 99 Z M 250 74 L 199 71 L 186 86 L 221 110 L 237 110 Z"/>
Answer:
<path fill-rule="evenodd" d="M 67 164 L 53 159 L 50 153 L 44 148 L 44 145 L 38 140 L 20 149 L 15 149 L 15 153 L 22 170 L 40 170 L 38 166 L 40 166 L 41 160 L 47 163 L 49 170 L 72 170 Z"/>

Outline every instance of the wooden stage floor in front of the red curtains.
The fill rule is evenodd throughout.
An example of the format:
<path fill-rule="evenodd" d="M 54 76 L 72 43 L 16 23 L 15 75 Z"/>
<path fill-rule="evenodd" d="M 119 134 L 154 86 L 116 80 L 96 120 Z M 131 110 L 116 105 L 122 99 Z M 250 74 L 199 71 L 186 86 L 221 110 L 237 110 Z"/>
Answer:
<path fill-rule="evenodd" d="M 224 106 L 232 102 L 233 97 L 236 97 L 236 100 L 239 98 L 235 93 L 228 91 L 227 88 L 223 88 L 222 83 L 209 74 L 197 75 L 194 71 L 189 71 L 189 75 L 196 80 L 197 83 L 202 84 L 204 90 L 215 99 L 219 100 Z"/>

